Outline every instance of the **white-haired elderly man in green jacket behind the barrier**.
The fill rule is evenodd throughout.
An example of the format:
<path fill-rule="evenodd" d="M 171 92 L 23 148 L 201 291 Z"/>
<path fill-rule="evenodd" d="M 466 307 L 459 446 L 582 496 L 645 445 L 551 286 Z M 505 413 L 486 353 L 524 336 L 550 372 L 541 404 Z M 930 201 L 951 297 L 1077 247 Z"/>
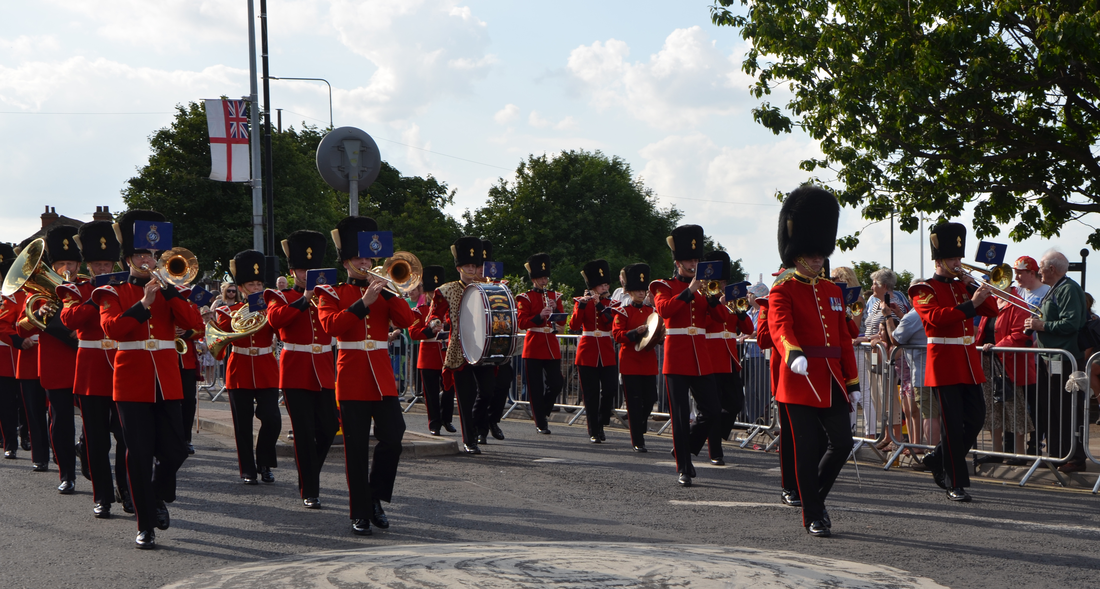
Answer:
<path fill-rule="evenodd" d="M 1024 327 L 1038 334 L 1038 347 L 1062 348 L 1077 359 L 1078 368 L 1085 366 L 1085 351 L 1077 346 L 1077 333 L 1089 319 L 1088 304 L 1081 286 L 1066 276 L 1069 260 L 1059 252 L 1048 251 L 1038 263 L 1040 279 L 1049 285 L 1050 290 L 1043 297 L 1040 311 L 1043 319 L 1030 318 Z M 1040 355 L 1038 399 L 1035 405 L 1035 434 L 1046 436 L 1050 456 L 1066 456 L 1072 436 L 1081 427 L 1085 411 L 1085 396 L 1066 392 L 1066 380 L 1071 367 L 1063 354 Z M 1047 388 L 1047 385 L 1049 388 Z M 1071 425 L 1076 423 L 1075 425 Z M 1058 470 L 1077 473 L 1085 470 L 1085 447 L 1078 437 L 1077 446 L 1069 460 Z"/>

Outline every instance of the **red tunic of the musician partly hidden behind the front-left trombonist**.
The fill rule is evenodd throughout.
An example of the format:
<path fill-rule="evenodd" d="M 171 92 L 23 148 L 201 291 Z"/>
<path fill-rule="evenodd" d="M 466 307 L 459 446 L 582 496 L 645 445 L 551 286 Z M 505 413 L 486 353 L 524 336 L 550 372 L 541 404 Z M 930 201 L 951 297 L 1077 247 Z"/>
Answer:
<path fill-rule="evenodd" d="M 76 381 L 73 392 L 111 397 L 114 393 L 114 340 L 103 335 L 99 322 L 99 307 L 91 301 L 95 285 L 63 285 L 57 294 L 65 302 L 62 322 L 76 332 L 80 347 L 76 351 Z"/>

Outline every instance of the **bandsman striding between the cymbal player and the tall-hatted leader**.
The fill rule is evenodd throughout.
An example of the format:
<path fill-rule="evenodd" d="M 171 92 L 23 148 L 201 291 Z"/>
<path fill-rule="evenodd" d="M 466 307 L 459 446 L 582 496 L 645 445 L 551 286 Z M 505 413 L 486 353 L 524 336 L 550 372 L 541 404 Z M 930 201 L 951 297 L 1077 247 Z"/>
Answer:
<path fill-rule="evenodd" d="M 703 254 L 703 227 L 681 225 L 666 241 L 672 249 L 676 274 L 668 280 L 652 281 L 649 291 L 653 293 L 657 313 L 664 320 L 664 388 L 669 391 L 676 484 L 691 487 L 695 467 L 691 464 L 688 391 L 695 398 L 707 427 L 716 432 L 722 405 L 714 387 L 705 325 L 712 319 L 724 322 L 725 315 L 717 309 L 721 298 L 707 298 L 700 292 L 703 282 L 695 276 L 695 266 Z M 708 433 L 707 437 L 714 435 Z"/>

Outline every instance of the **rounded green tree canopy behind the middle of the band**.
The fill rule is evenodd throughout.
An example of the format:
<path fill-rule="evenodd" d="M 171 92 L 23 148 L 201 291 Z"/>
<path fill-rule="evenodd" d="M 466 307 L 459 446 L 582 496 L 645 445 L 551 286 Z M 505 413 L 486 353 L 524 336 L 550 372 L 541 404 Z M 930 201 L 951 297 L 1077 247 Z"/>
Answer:
<path fill-rule="evenodd" d="M 637 262 L 649 264 L 654 277 L 671 276 L 664 238 L 681 218 L 675 208 L 658 207 L 626 162 L 598 151 L 528 156 L 515 182 L 498 180 L 485 207 L 463 215 L 465 232 L 492 241 L 506 273 L 525 274 L 528 256 L 547 252 L 551 279 L 578 293 L 584 290 L 581 268 L 596 258 L 610 264 L 613 288 L 618 269 Z M 705 245 L 715 247 L 710 238 Z"/>

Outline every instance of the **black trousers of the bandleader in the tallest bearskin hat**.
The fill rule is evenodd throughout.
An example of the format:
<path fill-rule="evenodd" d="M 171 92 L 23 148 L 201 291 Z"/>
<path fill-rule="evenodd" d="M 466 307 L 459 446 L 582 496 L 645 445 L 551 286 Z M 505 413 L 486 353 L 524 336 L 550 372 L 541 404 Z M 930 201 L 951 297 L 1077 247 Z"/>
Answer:
<path fill-rule="evenodd" d="M 835 380 L 831 407 L 779 403 L 779 410 L 787 413 L 791 425 L 795 480 L 802 499 L 802 525 L 823 518 L 825 498 L 848 462 L 854 445 L 848 407 L 848 399 Z M 824 452 L 823 430 L 826 438 Z"/>

